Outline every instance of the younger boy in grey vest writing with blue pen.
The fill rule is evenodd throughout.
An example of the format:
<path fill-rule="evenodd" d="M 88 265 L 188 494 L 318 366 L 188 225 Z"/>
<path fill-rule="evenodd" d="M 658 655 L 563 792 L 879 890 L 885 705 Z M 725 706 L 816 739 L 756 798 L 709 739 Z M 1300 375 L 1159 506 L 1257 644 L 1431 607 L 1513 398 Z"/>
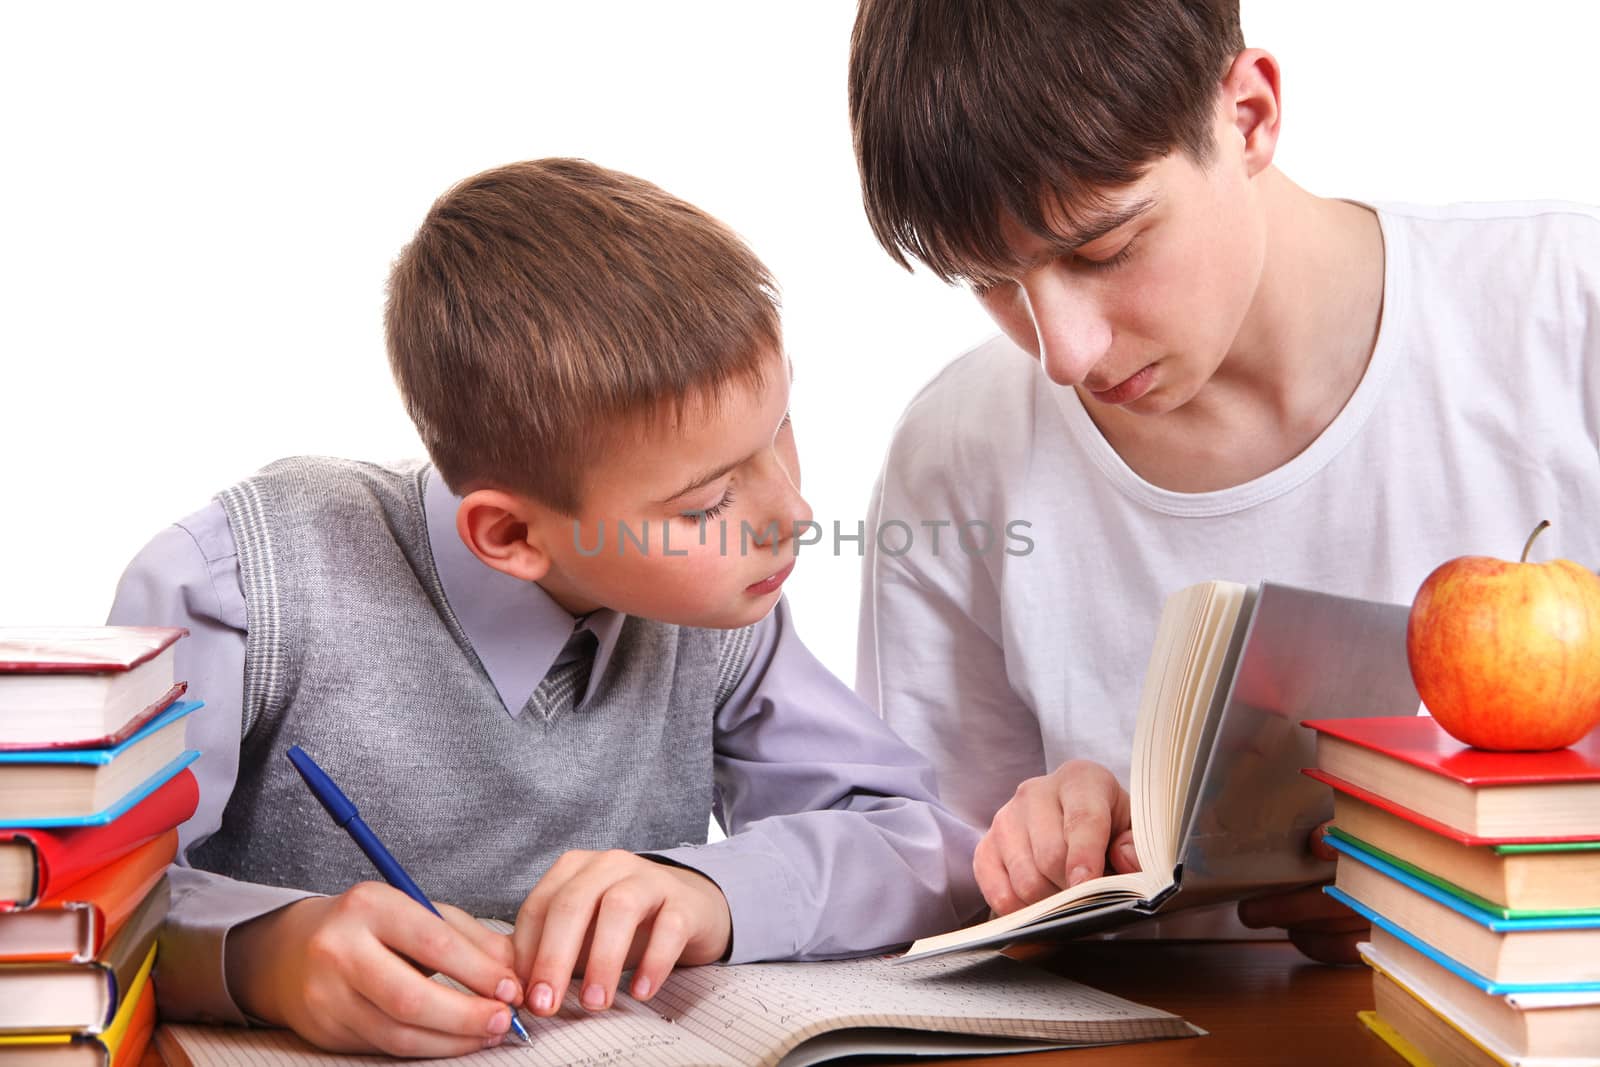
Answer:
<path fill-rule="evenodd" d="M 163 1014 L 450 1056 L 507 1005 L 554 1014 L 574 969 L 600 1009 L 627 966 L 648 998 L 677 963 L 981 907 L 976 833 L 781 600 L 810 510 L 773 285 L 733 234 L 589 163 L 488 171 L 400 256 L 387 338 L 434 466 L 274 464 L 157 536 L 112 609 L 187 625 L 211 704 Z M 363 883 L 296 742 L 514 937 Z"/>

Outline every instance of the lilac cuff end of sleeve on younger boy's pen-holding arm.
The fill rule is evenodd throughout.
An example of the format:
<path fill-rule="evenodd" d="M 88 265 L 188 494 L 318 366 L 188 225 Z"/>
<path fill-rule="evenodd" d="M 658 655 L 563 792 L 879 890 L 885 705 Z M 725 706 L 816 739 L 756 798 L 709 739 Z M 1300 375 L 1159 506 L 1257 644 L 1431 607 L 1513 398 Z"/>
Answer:
<path fill-rule="evenodd" d="M 267 912 L 315 893 L 234 881 L 174 867 L 173 909 L 162 929 L 155 968 L 157 1008 L 163 1019 L 259 1025 L 227 989 L 227 934 Z"/>

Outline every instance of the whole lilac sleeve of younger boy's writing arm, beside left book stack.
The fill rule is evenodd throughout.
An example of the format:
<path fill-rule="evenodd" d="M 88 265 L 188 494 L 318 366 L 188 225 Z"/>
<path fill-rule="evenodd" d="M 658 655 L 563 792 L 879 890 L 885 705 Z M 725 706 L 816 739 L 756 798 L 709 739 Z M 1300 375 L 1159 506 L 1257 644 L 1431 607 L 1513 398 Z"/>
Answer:
<path fill-rule="evenodd" d="M 187 696 L 205 701 L 189 717 L 187 744 L 200 750 L 192 769 L 200 806 L 178 830 L 178 867 L 171 872 L 173 907 L 162 929 L 155 971 L 157 1009 L 163 1019 L 248 1022 L 227 992 L 227 933 L 306 896 L 234 881 L 189 867 L 189 849 L 222 824 L 222 809 L 238 777 L 245 681 L 245 595 L 238 555 L 221 504 L 158 533 L 128 565 L 107 622 L 182 625 L 178 677 Z"/>

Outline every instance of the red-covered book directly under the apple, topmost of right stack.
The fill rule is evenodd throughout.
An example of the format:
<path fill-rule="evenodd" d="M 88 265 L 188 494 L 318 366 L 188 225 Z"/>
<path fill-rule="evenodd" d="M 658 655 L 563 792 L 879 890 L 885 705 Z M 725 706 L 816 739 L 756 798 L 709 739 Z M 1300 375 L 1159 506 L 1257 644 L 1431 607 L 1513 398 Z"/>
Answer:
<path fill-rule="evenodd" d="M 1600 729 L 1555 752 L 1488 752 L 1427 715 L 1326 718 L 1317 781 L 1466 845 L 1600 838 Z"/>

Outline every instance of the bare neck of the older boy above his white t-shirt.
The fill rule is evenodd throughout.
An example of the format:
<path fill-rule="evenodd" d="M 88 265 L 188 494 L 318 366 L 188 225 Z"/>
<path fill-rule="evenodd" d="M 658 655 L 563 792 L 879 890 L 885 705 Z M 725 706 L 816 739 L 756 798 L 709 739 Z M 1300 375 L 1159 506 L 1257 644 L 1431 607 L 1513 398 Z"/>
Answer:
<path fill-rule="evenodd" d="M 1216 374 L 1166 414 L 1094 413 L 1123 461 L 1166 490 L 1230 488 L 1298 456 L 1355 392 L 1378 339 L 1378 216 L 1314 197 L 1275 168 L 1259 181 L 1261 280 Z"/>

